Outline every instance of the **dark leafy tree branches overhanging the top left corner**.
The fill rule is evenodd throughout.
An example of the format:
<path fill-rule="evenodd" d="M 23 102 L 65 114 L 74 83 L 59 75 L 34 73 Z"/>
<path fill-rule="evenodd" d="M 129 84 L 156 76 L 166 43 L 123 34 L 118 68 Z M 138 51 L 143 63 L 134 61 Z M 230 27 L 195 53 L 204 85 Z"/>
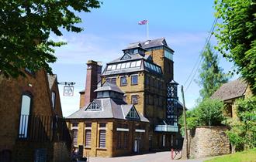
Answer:
<path fill-rule="evenodd" d="M 99 8 L 98 0 L 0 1 L 0 73 L 23 75 L 22 69 L 46 69 L 55 62 L 54 47 L 65 42 L 49 39 L 50 33 L 61 36 L 61 29 L 81 32 L 75 26 L 81 18 L 74 12 L 90 12 Z"/>

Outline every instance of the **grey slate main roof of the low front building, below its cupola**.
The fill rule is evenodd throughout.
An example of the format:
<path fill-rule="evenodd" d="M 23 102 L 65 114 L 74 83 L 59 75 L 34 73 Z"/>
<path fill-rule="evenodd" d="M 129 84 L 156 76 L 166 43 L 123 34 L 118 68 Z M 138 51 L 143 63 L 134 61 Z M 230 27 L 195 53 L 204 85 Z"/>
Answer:
<path fill-rule="evenodd" d="M 126 119 L 127 112 L 133 107 L 133 105 L 128 105 L 124 101 L 114 100 L 111 98 L 101 98 L 95 99 L 92 102 L 95 102 L 101 110 L 86 110 L 88 106 L 84 106 L 80 110 L 72 113 L 70 116 L 67 116 L 67 119 Z M 138 113 L 140 116 L 140 121 L 149 122 L 146 117 Z"/>

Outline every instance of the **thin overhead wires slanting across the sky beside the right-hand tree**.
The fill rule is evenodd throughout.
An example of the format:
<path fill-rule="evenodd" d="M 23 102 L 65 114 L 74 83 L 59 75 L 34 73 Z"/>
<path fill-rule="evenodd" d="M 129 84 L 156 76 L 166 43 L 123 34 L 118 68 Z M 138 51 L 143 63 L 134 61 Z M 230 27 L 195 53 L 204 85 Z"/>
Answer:
<path fill-rule="evenodd" d="M 190 80 L 190 82 L 189 82 L 189 86 L 191 85 L 191 83 L 192 83 L 192 81 L 193 81 L 193 79 L 194 79 L 194 77 L 195 77 L 195 74 L 197 73 L 197 70 L 199 69 L 200 63 L 202 62 L 202 53 L 206 51 L 206 46 L 209 44 L 209 41 L 210 41 L 210 39 L 212 38 L 213 31 L 214 31 L 214 29 L 215 29 L 215 25 L 216 25 L 216 22 L 217 22 L 217 21 L 218 21 L 218 18 L 214 19 L 213 25 L 212 25 L 212 27 L 211 27 L 211 29 L 210 29 L 209 35 L 208 35 L 208 37 L 207 37 L 207 39 L 206 39 L 206 42 L 205 42 L 205 44 L 204 44 L 204 46 L 203 46 L 202 52 L 200 53 L 199 58 L 198 58 L 197 61 L 195 62 L 195 66 L 197 66 L 196 69 L 195 69 L 195 66 L 194 66 L 193 69 L 192 69 L 192 72 L 189 74 L 188 79 L 186 79 L 186 81 L 185 81 L 185 83 L 187 83 L 187 81 L 189 80 L 190 76 L 192 76 L 192 73 L 194 73 L 193 76 L 192 76 L 192 78 L 191 78 L 191 80 Z M 201 59 L 200 59 L 200 58 L 201 58 Z M 199 63 L 197 64 L 197 62 L 198 62 L 199 59 L 200 59 L 200 61 L 199 61 Z M 194 71 L 194 69 L 195 69 L 195 71 Z M 185 85 L 185 84 L 184 84 L 184 85 Z M 189 89 L 189 86 L 186 87 L 185 92 Z"/>

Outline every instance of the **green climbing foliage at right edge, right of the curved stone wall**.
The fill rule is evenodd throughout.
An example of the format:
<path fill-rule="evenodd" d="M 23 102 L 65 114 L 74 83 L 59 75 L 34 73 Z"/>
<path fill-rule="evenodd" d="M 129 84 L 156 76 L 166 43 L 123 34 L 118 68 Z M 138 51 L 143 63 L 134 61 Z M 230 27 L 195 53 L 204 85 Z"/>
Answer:
<path fill-rule="evenodd" d="M 236 104 L 240 120 L 230 123 L 231 130 L 227 132 L 230 142 L 236 150 L 256 147 L 256 96 L 237 100 Z"/>

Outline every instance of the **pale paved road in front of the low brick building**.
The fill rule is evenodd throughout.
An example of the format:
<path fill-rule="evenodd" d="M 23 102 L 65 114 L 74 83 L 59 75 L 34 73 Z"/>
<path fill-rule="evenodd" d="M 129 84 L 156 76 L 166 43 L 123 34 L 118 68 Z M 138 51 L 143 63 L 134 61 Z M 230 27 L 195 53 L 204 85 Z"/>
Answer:
<path fill-rule="evenodd" d="M 170 151 L 126 157 L 90 157 L 89 162 L 202 162 L 203 160 L 171 160 Z"/>

